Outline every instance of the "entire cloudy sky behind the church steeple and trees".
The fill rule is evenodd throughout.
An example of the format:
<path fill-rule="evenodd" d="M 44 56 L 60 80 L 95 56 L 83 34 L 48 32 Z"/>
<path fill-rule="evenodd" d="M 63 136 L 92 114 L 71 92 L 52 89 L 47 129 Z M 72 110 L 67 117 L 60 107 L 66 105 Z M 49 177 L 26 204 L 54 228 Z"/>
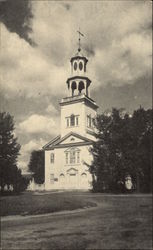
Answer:
<path fill-rule="evenodd" d="M 99 113 L 151 108 L 151 1 L 1 1 L 0 21 L 0 108 L 14 116 L 23 172 L 60 133 L 79 27 Z"/>

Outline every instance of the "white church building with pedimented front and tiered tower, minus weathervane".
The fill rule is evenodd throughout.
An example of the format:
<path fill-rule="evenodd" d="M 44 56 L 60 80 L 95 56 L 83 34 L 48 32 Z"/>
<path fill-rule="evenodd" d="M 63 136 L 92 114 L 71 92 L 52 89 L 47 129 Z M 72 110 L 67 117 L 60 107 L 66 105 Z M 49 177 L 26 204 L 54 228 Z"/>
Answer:
<path fill-rule="evenodd" d="M 43 147 L 45 190 L 91 188 L 92 176 L 87 164 L 92 162 L 89 149 L 96 140 L 93 119 L 98 106 L 90 98 L 87 62 L 80 48 L 70 60 L 68 96 L 60 102 L 60 135 Z"/>

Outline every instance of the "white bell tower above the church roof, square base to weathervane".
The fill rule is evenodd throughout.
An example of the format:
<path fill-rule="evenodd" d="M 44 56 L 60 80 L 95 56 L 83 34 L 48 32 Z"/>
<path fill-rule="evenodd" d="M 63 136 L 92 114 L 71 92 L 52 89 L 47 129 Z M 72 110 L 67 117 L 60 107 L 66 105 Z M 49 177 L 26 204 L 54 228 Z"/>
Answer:
<path fill-rule="evenodd" d="M 78 31 L 78 51 L 70 59 L 71 75 L 67 79 L 68 96 L 60 102 L 61 136 L 75 132 L 94 140 L 93 119 L 97 113 L 97 104 L 90 98 L 91 80 L 87 77 L 88 59 L 81 52 L 81 36 Z"/>

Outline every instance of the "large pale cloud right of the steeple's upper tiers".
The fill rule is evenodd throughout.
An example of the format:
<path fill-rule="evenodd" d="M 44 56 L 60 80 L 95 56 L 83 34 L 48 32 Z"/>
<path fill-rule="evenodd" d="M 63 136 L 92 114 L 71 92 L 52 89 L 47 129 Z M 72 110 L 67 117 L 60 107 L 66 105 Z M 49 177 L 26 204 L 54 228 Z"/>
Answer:
<path fill-rule="evenodd" d="M 134 84 L 137 78 L 151 74 L 151 54 L 150 36 L 138 33 L 127 35 L 120 42 L 114 40 L 108 49 L 96 49 L 90 65 L 94 87 Z"/>

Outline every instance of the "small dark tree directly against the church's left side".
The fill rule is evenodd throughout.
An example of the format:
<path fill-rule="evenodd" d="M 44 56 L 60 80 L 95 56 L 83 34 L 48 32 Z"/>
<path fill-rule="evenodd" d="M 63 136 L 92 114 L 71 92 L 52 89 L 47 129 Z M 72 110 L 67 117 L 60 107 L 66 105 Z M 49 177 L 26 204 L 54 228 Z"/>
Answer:
<path fill-rule="evenodd" d="M 30 162 L 28 168 L 33 172 L 34 181 L 37 184 L 44 183 L 44 151 L 34 150 L 30 156 Z"/>

